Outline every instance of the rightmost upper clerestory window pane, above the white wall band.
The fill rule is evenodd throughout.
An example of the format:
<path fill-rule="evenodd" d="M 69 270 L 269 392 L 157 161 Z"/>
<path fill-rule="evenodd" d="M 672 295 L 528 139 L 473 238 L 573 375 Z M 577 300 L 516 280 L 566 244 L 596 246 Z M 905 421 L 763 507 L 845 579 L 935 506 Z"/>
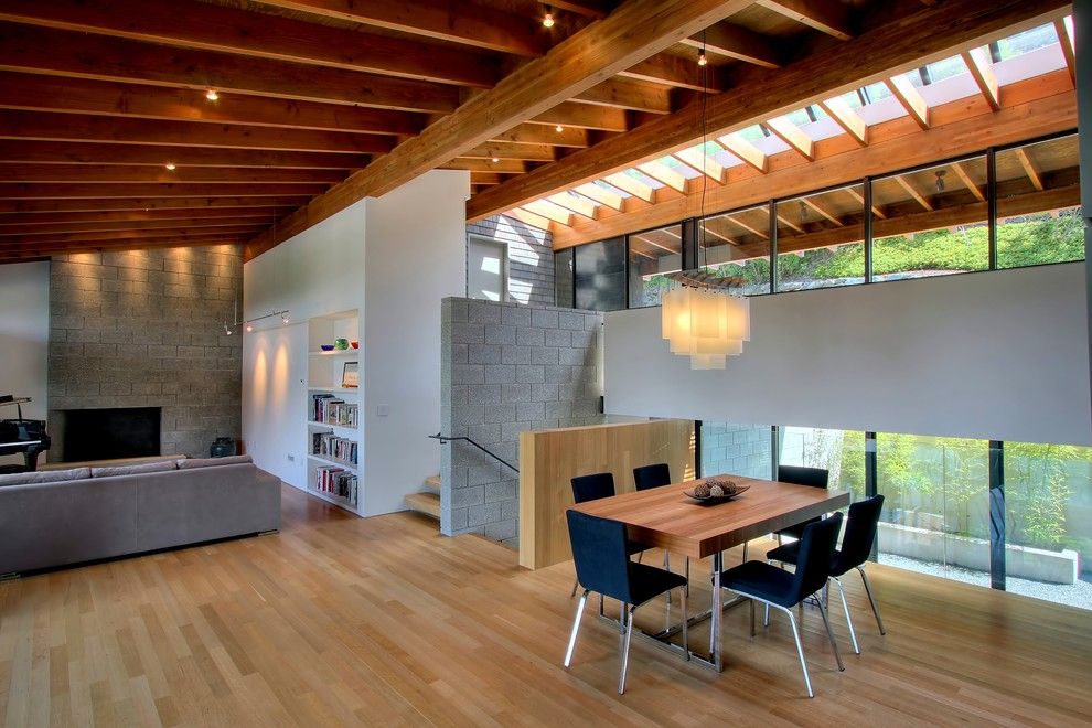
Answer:
<path fill-rule="evenodd" d="M 997 152 L 997 267 L 1084 259 L 1075 135 Z"/>

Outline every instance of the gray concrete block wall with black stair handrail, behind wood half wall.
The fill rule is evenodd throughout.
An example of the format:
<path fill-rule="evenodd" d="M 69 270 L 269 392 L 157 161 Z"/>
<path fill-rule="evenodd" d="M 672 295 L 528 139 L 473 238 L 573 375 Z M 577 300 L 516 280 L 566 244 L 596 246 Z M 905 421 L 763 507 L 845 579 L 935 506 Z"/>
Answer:
<path fill-rule="evenodd" d="M 442 303 L 440 422 L 516 468 L 520 432 L 597 425 L 602 314 L 460 298 Z M 442 447 L 440 529 L 515 547 L 518 475 L 473 446 Z"/>

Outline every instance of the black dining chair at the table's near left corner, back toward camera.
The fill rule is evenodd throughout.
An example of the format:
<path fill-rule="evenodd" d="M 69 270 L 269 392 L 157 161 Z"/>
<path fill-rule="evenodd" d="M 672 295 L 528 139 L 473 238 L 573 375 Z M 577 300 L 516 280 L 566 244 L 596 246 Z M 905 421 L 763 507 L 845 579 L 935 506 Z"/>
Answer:
<path fill-rule="evenodd" d="M 630 560 L 625 524 L 609 518 L 588 515 L 578 511 L 566 512 L 569 524 L 569 542 L 572 545 L 572 560 L 576 563 L 577 578 L 584 585 L 584 593 L 577 604 L 572 620 L 572 632 L 565 651 L 565 667 L 572 663 L 580 618 L 592 591 L 621 602 L 620 630 L 622 641 L 622 664 L 618 677 L 618 693 L 625 692 L 625 670 L 630 661 L 630 640 L 633 636 L 633 612 L 641 604 L 655 597 L 679 589 L 683 606 L 683 654 L 690 659 L 686 623 L 686 579 L 678 575 L 646 564 Z"/>

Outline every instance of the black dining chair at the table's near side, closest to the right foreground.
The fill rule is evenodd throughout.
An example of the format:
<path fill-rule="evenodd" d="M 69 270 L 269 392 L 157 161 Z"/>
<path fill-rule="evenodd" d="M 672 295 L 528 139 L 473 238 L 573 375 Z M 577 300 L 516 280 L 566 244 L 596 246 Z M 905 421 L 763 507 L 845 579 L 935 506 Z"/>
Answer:
<path fill-rule="evenodd" d="M 793 617 L 792 608 L 809 597 L 815 596 L 823 588 L 823 585 L 826 584 L 831 559 L 834 557 L 834 546 L 841 528 L 841 513 L 835 513 L 828 518 L 807 524 L 801 534 L 796 570 L 793 572 L 779 569 L 766 561 L 746 561 L 720 575 L 721 587 L 751 600 L 752 636 L 754 635 L 756 601 L 766 604 L 766 617 L 762 620 L 763 625 L 770 624 L 770 607 L 779 609 L 789 615 L 792 636 L 796 641 L 796 656 L 800 657 L 800 668 L 804 673 L 804 687 L 807 688 L 807 697 L 815 697 L 815 693 L 812 690 L 812 681 L 807 675 L 804 647 L 800 642 L 800 629 L 796 624 L 795 617 Z M 823 615 L 823 624 L 826 627 L 826 635 L 829 638 L 831 647 L 834 650 L 834 659 L 838 663 L 838 670 L 843 671 L 846 667 L 842 663 L 838 645 L 834 641 L 834 631 L 831 629 L 831 620 L 826 614 L 826 608 L 823 606 L 822 599 L 816 598 L 815 601 L 818 604 L 820 614 Z"/>

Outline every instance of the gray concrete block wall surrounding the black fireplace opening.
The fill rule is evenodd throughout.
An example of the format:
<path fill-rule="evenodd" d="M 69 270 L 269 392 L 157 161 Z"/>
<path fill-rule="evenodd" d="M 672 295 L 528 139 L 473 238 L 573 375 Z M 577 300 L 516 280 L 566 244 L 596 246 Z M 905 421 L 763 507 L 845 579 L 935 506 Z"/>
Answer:
<path fill-rule="evenodd" d="M 161 407 L 163 453 L 208 456 L 240 436 L 243 336 L 224 334 L 242 292 L 237 246 L 54 256 L 50 460 L 57 410 Z"/>

